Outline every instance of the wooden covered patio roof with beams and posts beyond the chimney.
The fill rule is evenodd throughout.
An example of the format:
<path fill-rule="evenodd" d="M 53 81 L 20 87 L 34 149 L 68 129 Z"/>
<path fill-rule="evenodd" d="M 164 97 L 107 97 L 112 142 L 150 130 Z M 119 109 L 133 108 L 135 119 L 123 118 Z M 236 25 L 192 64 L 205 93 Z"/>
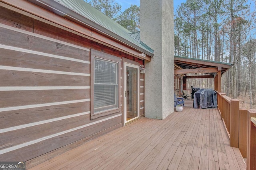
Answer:
<path fill-rule="evenodd" d="M 183 89 L 186 89 L 186 79 L 214 78 L 214 89 L 220 92 L 221 75 L 231 67 L 230 63 L 174 56 L 174 74 L 184 75 Z M 186 76 L 188 73 L 204 73 L 205 75 Z"/>

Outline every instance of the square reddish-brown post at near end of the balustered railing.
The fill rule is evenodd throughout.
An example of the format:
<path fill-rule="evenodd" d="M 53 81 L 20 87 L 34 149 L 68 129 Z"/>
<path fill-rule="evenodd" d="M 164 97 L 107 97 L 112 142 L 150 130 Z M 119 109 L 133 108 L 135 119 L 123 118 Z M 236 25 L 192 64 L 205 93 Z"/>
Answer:
<path fill-rule="evenodd" d="M 239 147 L 239 100 L 230 101 L 230 146 Z"/>

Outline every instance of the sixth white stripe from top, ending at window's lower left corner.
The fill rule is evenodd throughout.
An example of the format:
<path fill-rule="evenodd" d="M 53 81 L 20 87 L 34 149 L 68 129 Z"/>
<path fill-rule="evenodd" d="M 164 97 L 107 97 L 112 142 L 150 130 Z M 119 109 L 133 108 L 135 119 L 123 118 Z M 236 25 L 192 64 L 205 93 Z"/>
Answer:
<path fill-rule="evenodd" d="M 54 118 L 54 119 L 48 119 L 48 120 L 45 120 L 45 121 L 28 123 L 28 124 L 25 124 L 25 125 L 19 125 L 19 126 L 10 127 L 10 128 L 3 128 L 3 129 L 0 129 L 0 133 L 10 132 L 12 130 L 18 130 L 18 129 L 21 129 L 21 128 L 28 128 L 28 127 L 32 127 L 32 126 L 42 125 L 42 124 L 45 124 L 45 123 L 51 123 L 51 122 L 54 122 L 54 121 L 60 121 L 60 120 L 63 120 L 63 119 L 78 117 L 78 116 L 87 115 L 87 114 L 90 114 L 90 111 L 84 112 L 84 113 L 77 113 L 77 114 L 74 114 L 74 115 L 68 115 L 68 116 L 64 116 L 64 117 L 58 117 L 58 118 Z"/>

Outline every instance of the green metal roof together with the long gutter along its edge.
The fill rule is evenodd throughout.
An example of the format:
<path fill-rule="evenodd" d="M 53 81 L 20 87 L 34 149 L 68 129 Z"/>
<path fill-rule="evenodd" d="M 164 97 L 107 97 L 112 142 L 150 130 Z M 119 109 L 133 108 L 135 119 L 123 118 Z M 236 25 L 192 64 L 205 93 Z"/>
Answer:
<path fill-rule="evenodd" d="M 84 0 L 29 0 L 39 6 L 42 6 L 58 15 L 73 21 L 82 22 L 91 28 L 102 32 L 122 43 L 142 51 L 149 56 L 153 56 L 152 49 L 141 44 L 132 38 L 124 27 L 120 26 L 114 20 L 108 18 L 100 11 L 93 8 Z"/>

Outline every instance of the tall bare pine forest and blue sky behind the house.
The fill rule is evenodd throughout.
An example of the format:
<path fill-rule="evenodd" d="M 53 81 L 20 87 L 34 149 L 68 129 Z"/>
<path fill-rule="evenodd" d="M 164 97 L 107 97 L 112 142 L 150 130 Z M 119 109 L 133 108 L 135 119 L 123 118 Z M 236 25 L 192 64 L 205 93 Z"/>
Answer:
<path fill-rule="evenodd" d="M 121 12 L 115 0 L 85 0 L 131 32 L 140 30 L 140 7 Z M 187 0 L 174 8 L 174 55 L 232 63 L 222 92 L 256 109 L 256 0 Z M 214 88 L 214 79 L 191 79 Z"/>

